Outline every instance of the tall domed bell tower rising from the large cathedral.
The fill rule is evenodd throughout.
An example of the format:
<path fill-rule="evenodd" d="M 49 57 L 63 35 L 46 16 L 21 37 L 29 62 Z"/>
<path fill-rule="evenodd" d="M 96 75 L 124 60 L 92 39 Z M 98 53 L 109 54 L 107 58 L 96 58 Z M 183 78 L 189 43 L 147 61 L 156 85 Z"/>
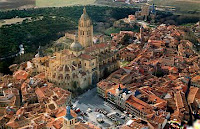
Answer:
<path fill-rule="evenodd" d="M 83 14 L 79 19 L 78 42 L 83 47 L 89 47 L 93 45 L 93 25 L 90 17 L 86 12 L 86 8 L 83 9 Z"/>

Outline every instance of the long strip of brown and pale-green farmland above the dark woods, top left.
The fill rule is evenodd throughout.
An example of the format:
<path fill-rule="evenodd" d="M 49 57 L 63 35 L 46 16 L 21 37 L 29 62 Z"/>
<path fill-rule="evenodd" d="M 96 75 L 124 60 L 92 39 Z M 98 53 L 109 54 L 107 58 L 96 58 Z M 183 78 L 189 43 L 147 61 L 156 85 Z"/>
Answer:
<path fill-rule="evenodd" d="M 113 2 L 113 0 L 0 0 L 0 10 L 32 7 L 63 7 L 73 5 L 133 7 L 132 5 L 121 2 Z M 137 5 L 134 5 L 134 7 L 137 7 Z"/>

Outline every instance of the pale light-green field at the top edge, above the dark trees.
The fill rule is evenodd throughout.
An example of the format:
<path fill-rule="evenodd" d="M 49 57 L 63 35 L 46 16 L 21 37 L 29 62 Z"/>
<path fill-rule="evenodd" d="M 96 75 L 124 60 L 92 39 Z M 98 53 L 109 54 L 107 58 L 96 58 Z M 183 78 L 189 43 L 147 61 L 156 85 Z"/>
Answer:
<path fill-rule="evenodd" d="M 95 0 L 36 0 L 37 7 L 56 7 L 93 4 Z"/>

